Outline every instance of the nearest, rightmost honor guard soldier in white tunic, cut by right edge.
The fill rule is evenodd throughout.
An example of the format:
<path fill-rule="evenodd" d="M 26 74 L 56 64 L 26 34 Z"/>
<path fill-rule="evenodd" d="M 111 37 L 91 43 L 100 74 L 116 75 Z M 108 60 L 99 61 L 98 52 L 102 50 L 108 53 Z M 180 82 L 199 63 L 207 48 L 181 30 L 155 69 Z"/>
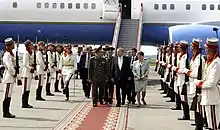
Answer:
<path fill-rule="evenodd" d="M 217 130 L 220 121 L 220 60 L 218 57 L 218 39 L 207 38 L 205 49 L 207 61 L 203 70 L 202 80 L 196 81 L 201 88 L 201 105 L 205 107 L 208 129 Z"/>

